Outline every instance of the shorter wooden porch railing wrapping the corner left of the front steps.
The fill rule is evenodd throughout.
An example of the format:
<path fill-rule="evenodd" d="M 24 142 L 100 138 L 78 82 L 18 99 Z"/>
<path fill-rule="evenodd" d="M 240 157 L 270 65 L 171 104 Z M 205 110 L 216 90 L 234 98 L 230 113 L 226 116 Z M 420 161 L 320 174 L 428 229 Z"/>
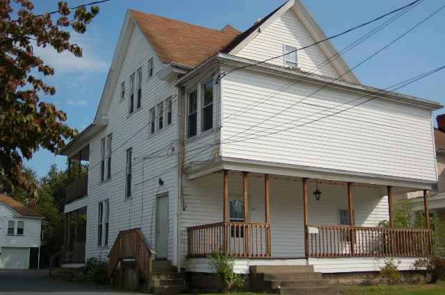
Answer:
<path fill-rule="evenodd" d="M 207 257 L 215 251 L 235 257 L 270 257 L 270 224 L 218 222 L 188 228 L 189 257 Z"/>

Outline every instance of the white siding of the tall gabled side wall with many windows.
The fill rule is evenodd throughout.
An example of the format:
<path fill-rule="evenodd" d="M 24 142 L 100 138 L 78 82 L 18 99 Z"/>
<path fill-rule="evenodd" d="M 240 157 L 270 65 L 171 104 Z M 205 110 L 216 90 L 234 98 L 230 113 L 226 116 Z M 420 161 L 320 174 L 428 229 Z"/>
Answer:
<path fill-rule="evenodd" d="M 173 83 L 161 81 L 152 76 L 148 78 L 147 62 L 154 58 L 154 71 L 161 69 L 162 62 L 155 56 L 145 35 L 138 27 L 131 35 L 118 83 L 115 85 L 110 108 L 108 126 L 95 135 L 90 143 L 90 171 L 87 225 L 87 258 L 106 258 L 120 230 L 142 228 L 145 237 L 154 247 L 154 209 L 156 195 L 168 193 L 168 258 L 173 258 L 175 212 L 177 203 L 177 91 Z M 143 69 L 142 107 L 129 116 L 129 77 L 139 67 Z M 120 99 L 120 84 L 125 81 L 125 99 Z M 149 109 L 172 96 L 172 124 L 163 130 L 149 135 Z M 164 107 L 166 110 L 166 107 Z M 156 116 L 157 114 L 156 110 Z M 145 128 L 138 132 L 144 125 Z M 138 133 L 137 133 L 138 132 Z M 113 133 L 113 155 L 111 160 L 111 179 L 100 182 L 100 140 Z M 137 133 L 133 136 L 133 134 Z M 125 143 L 124 143 L 125 142 Z M 114 151 L 118 146 L 119 149 Z M 132 198 L 124 198 L 126 151 L 133 149 L 133 187 Z M 145 156 L 151 158 L 146 158 Z M 159 157 L 161 156 L 161 157 Z M 144 169 L 143 169 L 144 167 Z M 144 171 L 143 171 L 144 170 Z M 142 178 L 144 174 L 144 181 Z M 164 185 L 159 185 L 159 178 Z M 110 199 L 109 242 L 108 246 L 97 246 L 98 203 Z"/>

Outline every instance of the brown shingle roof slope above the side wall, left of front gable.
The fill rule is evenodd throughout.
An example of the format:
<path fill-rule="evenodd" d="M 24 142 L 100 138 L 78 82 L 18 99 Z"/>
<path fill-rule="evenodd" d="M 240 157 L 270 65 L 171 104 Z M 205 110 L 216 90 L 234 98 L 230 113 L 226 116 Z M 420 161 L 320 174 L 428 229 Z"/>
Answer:
<path fill-rule="evenodd" d="M 225 26 L 219 31 L 136 10 L 129 11 L 165 63 L 177 62 L 197 67 L 240 34 L 232 26 Z"/>

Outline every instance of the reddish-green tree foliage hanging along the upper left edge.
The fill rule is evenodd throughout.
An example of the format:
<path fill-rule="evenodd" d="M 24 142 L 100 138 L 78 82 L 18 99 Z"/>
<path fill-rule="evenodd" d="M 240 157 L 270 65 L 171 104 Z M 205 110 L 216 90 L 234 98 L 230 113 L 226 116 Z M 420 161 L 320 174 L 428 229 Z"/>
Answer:
<path fill-rule="evenodd" d="M 54 68 L 35 56 L 33 48 L 81 57 L 81 47 L 70 42 L 70 31 L 85 33 L 99 7 L 72 11 L 60 1 L 56 11 L 37 15 L 33 10 L 30 0 L 0 0 L 0 191 L 35 191 L 35 183 L 23 174 L 22 158 L 31 159 L 40 147 L 58 153 L 65 140 L 76 136 L 65 124 L 65 112 L 40 100 L 42 94 L 56 93 L 42 80 L 54 75 Z"/>

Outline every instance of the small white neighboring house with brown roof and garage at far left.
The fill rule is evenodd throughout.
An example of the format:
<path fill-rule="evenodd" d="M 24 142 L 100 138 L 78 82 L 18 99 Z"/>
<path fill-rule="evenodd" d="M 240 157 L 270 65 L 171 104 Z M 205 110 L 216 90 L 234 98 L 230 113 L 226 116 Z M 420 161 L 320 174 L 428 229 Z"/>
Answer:
<path fill-rule="evenodd" d="M 0 269 L 37 269 L 42 215 L 0 194 Z"/>

